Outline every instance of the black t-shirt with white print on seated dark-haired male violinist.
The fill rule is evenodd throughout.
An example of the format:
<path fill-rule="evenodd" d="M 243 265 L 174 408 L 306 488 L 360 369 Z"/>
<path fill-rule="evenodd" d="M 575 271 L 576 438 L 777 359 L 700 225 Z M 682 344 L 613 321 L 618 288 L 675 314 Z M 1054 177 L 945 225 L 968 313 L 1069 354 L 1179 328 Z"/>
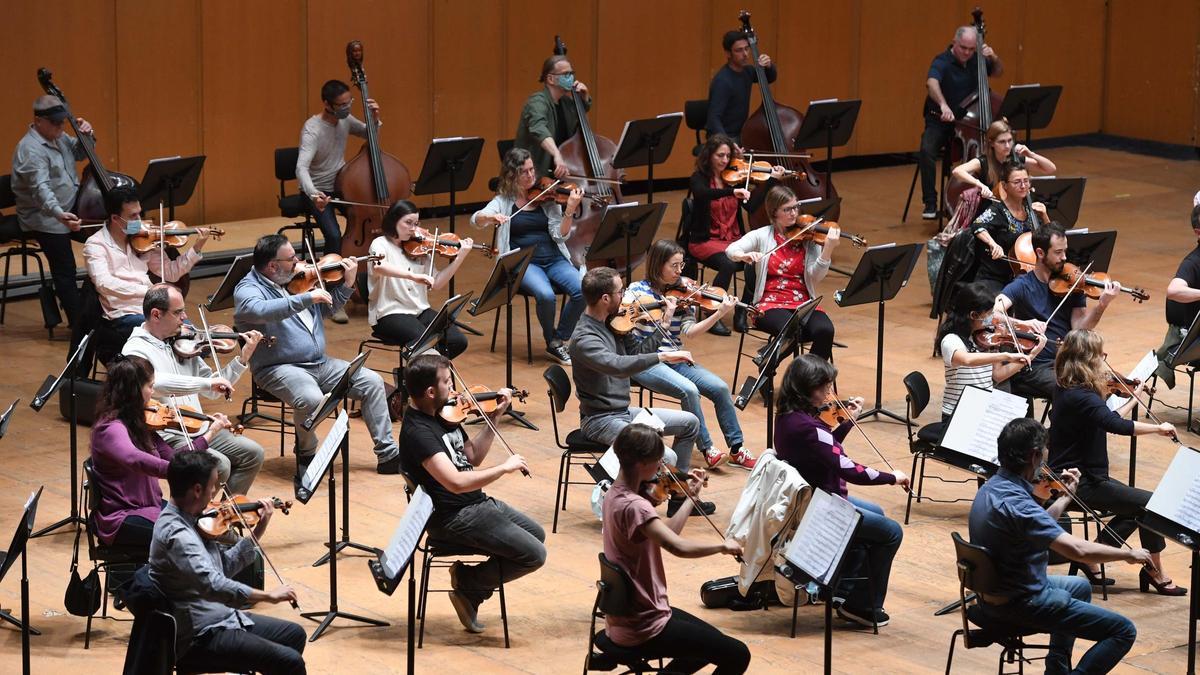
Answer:
<path fill-rule="evenodd" d="M 467 432 L 461 425 L 448 424 L 412 406 L 404 408 L 404 422 L 400 428 L 400 466 L 433 500 L 434 518 L 449 518 L 458 509 L 487 498 L 482 490 L 461 495 L 446 490 L 421 464 L 438 453 L 445 453 L 458 471 L 474 471 L 463 452 L 466 442 Z"/>

